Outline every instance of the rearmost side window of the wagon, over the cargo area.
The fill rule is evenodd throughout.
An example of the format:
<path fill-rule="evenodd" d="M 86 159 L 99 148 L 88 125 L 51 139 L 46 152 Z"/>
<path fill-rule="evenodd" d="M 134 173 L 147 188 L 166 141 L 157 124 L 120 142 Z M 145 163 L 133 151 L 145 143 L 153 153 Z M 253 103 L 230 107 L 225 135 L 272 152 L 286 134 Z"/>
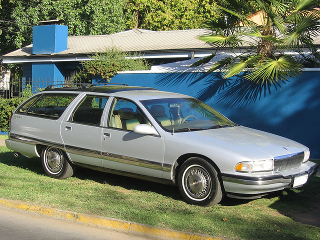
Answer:
<path fill-rule="evenodd" d="M 77 94 L 43 94 L 27 100 L 17 112 L 48 118 L 59 118 Z"/>

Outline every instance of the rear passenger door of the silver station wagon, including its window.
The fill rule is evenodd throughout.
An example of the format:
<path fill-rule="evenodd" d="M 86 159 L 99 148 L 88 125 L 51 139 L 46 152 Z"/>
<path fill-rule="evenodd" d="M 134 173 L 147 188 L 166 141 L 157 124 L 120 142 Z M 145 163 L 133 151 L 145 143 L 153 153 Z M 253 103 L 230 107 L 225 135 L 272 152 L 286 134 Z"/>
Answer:
<path fill-rule="evenodd" d="M 61 124 L 65 150 L 72 162 L 102 167 L 101 118 L 108 97 L 87 94 Z"/>

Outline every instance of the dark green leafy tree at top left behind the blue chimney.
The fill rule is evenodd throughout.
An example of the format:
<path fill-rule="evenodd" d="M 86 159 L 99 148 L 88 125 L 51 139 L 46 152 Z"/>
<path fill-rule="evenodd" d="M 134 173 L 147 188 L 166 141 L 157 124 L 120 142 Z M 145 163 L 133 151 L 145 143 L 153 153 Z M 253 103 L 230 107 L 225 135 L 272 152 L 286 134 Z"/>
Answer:
<path fill-rule="evenodd" d="M 69 35 L 110 34 L 125 29 L 126 0 L 1 0 L 0 54 L 32 42 L 38 21 L 63 19 Z"/>

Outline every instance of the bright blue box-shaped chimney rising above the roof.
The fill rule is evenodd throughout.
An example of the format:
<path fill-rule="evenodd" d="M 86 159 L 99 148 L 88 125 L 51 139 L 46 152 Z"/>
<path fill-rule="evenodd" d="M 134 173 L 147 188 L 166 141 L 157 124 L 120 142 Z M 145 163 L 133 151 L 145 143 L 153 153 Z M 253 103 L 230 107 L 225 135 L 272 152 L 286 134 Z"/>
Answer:
<path fill-rule="evenodd" d="M 33 26 L 32 53 L 49 54 L 67 49 L 68 27 L 64 25 Z"/>

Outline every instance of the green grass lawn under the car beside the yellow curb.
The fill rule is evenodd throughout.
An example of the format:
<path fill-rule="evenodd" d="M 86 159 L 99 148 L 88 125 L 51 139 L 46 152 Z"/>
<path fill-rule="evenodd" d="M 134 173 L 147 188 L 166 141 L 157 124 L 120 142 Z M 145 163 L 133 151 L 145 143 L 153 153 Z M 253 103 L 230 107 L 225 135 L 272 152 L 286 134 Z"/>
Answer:
<path fill-rule="evenodd" d="M 290 217 L 312 209 L 319 196 L 317 175 L 298 189 L 255 200 L 226 197 L 220 204 L 201 207 L 183 202 L 176 186 L 84 168 L 78 168 L 73 177 L 53 179 L 44 174 L 39 158 L 16 158 L 0 147 L 2 198 L 215 237 L 320 239 L 319 227 Z"/>

